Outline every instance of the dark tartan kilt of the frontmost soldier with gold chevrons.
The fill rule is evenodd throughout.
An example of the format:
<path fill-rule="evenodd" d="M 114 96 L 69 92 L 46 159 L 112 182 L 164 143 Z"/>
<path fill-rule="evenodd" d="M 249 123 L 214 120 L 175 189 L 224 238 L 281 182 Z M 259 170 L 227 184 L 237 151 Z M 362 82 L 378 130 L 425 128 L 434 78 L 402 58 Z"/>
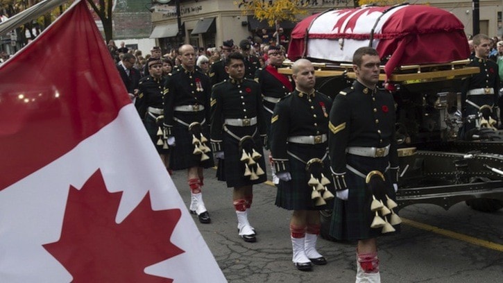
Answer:
<path fill-rule="evenodd" d="M 386 194 L 396 200 L 391 176 L 389 171 L 386 171 L 386 167 L 389 166 L 389 157 L 373 158 L 347 154 L 346 162 L 364 175 L 373 170 L 381 171 L 385 178 Z M 365 179 L 349 169 L 346 169 L 345 178 L 349 188 L 348 200 L 335 198 L 330 236 L 338 240 L 361 240 L 400 232 L 400 225 L 393 226 L 396 232 L 386 234 L 381 233 L 382 228 L 370 228 L 375 216 L 375 212 L 370 211 L 372 192 L 367 188 Z"/>

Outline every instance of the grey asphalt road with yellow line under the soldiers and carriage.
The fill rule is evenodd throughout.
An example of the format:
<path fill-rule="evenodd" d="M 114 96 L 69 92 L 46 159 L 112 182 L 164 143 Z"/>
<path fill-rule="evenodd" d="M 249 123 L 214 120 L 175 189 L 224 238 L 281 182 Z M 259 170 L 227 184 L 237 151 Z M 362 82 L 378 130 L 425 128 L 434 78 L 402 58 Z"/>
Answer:
<path fill-rule="evenodd" d="M 276 207 L 275 187 L 254 187 L 250 223 L 257 242 L 237 234 L 232 189 L 205 171 L 203 197 L 212 223 L 198 226 L 228 282 L 355 282 L 355 243 L 320 239 L 318 252 L 326 266 L 298 271 L 291 262 L 291 212 Z M 271 175 L 268 175 L 271 178 Z M 188 207 L 190 192 L 185 171 L 172 175 Z M 464 203 L 448 211 L 436 205 L 410 205 L 400 210 L 402 232 L 378 240 L 382 282 L 503 282 L 503 209 L 476 212 Z"/>

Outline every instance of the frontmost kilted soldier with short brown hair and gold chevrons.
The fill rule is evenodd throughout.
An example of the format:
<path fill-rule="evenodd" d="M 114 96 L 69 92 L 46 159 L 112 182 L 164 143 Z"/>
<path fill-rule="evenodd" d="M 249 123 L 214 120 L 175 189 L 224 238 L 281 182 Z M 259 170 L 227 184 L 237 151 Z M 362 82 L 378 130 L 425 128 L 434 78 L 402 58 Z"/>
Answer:
<path fill-rule="evenodd" d="M 352 60 L 357 79 L 335 96 L 330 110 L 330 169 L 337 197 L 330 235 L 358 241 L 357 283 L 380 282 L 376 238 L 400 227 L 399 221 L 392 226 L 398 216 L 389 209 L 398 183 L 395 103 L 389 92 L 377 89 L 377 51 L 361 47 Z M 390 201 L 374 207 L 376 196 Z"/>

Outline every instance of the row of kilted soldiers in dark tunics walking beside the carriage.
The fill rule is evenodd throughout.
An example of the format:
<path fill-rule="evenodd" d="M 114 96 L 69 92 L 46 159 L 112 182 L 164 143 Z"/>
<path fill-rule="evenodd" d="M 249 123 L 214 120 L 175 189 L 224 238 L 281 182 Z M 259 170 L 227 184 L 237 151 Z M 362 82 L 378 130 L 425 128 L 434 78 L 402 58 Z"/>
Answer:
<path fill-rule="evenodd" d="M 333 102 L 314 89 L 309 60 L 296 61 L 291 78 L 278 72 L 281 49 L 268 49 L 269 64 L 255 71 L 255 80 L 246 78 L 245 55 L 225 53 L 219 63 L 225 79 L 214 85 L 217 63 L 208 77 L 195 67 L 193 46 L 180 46 L 179 55 L 181 65 L 164 83 L 162 62 L 148 60 L 150 76 L 139 86 L 137 105 L 164 164 L 187 170 L 190 212 L 201 223 L 211 222 L 201 191 L 203 169 L 216 160 L 218 180 L 232 188 L 239 237 L 255 242 L 257 231 L 248 214 L 253 185 L 267 180 L 266 145 L 278 176 L 275 204 L 293 211 L 289 225 L 296 268 L 311 271 L 313 264 L 327 263 L 316 241 L 319 211 L 332 209 L 333 203 L 332 236 L 358 240 L 357 282 L 379 282 L 375 238 L 399 225 L 391 225 L 390 213 L 383 212 L 393 207 L 382 205 L 395 198 L 398 157 L 393 98 L 376 87 L 377 52 L 355 52 L 357 80 Z M 370 210 L 373 198 L 381 203 Z"/>

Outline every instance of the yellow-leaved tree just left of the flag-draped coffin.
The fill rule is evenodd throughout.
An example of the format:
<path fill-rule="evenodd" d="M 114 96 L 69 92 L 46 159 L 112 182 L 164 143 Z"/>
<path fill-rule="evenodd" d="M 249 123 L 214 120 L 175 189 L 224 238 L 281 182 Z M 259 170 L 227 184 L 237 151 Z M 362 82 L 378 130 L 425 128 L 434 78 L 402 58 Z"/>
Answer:
<path fill-rule="evenodd" d="M 304 10 L 307 3 L 301 0 L 240 0 L 234 4 L 238 6 L 243 15 L 253 12 L 253 16 L 259 21 L 266 20 L 267 24 L 275 27 L 278 31 L 278 24 L 281 21 L 296 22 L 296 15 L 305 15 Z M 278 34 L 278 33 L 276 33 Z M 278 41 L 278 38 L 276 39 Z"/>

